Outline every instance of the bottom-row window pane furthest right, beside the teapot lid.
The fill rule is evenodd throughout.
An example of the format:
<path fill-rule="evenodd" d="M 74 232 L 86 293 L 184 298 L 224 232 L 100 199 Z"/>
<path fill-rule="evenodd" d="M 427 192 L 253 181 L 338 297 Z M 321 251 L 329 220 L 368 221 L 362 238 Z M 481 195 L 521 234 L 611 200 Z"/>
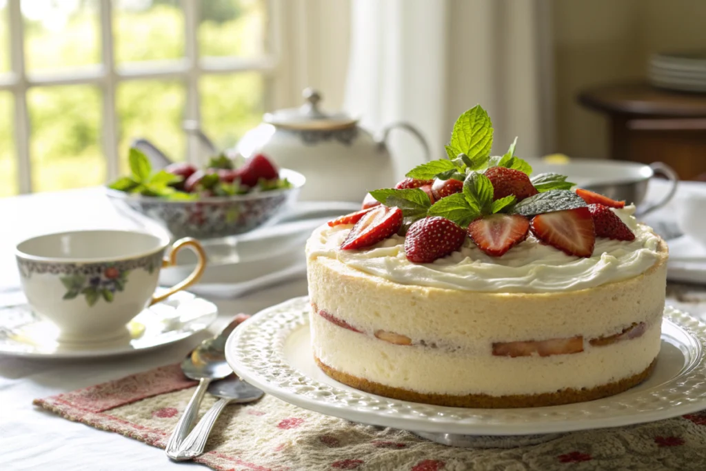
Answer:
<path fill-rule="evenodd" d="M 231 147 L 262 121 L 261 73 L 204 76 L 199 91 L 203 129 L 220 148 Z"/>

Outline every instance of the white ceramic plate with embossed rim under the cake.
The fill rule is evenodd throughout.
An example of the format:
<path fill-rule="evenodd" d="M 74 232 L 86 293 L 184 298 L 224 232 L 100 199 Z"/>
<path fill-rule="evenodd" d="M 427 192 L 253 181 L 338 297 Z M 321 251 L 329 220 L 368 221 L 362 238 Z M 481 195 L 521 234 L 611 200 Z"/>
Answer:
<path fill-rule="evenodd" d="M 549 434 L 651 422 L 706 408 L 706 326 L 664 310 L 662 351 L 645 383 L 587 403 L 526 409 L 463 409 L 383 398 L 329 378 L 313 362 L 309 304 L 261 311 L 228 339 L 226 358 L 253 386 L 299 407 L 364 424 L 469 435 Z"/>

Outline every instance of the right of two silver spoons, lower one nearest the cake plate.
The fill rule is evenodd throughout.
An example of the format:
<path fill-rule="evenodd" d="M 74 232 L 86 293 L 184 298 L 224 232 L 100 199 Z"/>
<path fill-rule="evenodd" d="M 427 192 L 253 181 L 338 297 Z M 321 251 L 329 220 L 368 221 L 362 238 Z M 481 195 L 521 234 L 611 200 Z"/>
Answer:
<path fill-rule="evenodd" d="M 186 437 L 184 444 L 179 449 L 177 457 L 173 459 L 191 460 L 203 453 L 203 448 L 206 446 L 211 429 L 213 429 L 213 425 L 216 423 L 220 413 L 225 409 L 225 406 L 230 403 L 251 403 L 262 398 L 265 394 L 262 390 L 249 385 L 234 375 L 211 383 L 208 386 L 208 392 L 220 399 L 203 415 L 196 427 L 193 427 L 191 434 Z"/>

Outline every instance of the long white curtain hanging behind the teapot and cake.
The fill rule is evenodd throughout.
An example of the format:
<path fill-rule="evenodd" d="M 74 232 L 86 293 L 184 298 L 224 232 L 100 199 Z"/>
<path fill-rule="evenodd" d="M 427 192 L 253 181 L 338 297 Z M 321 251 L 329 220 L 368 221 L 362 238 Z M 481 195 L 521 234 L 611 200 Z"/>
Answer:
<path fill-rule="evenodd" d="M 459 114 L 477 103 L 495 129 L 493 152 L 515 136 L 518 155 L 551 147 L 549 13 L 542 0 L 353 0 L 345 108 L 364 126 L 409 121 L 433 158 Z M 421 151 L 392 139 L 397 176 Z"/>

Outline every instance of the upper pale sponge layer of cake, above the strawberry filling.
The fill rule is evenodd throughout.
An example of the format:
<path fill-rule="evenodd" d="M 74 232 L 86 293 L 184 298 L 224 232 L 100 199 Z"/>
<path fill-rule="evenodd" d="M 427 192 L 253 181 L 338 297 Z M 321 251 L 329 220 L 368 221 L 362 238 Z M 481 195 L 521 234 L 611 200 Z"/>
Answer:
<path fill-rule="evenodd" d="M 311 301 L 368 332 L 386 330 L 448 345 L 599 338 L 662 317 L 667 248 L 645 273 L 559 293 L 493 293 L 401 285 L 333 258 L 309 258 Z"/>

